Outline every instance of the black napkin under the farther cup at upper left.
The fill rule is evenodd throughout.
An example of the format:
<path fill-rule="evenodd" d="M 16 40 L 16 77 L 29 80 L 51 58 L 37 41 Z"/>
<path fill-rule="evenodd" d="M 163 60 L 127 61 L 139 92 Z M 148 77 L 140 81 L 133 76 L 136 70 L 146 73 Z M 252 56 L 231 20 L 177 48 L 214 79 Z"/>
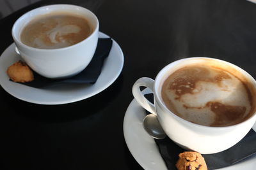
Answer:
<path fill-rule="evenodd" d="M 99 38 L 91 62 L 83 71 L 81 71 L 81 73 L 76 74 L 75 76 L 64 79 L 51 79 L 45 78 L 34 71 L 35 79 L 22 84 L 30 87 L 44 88 L 65 83 L 95 83 L 100 75 L 104 60 L 109 55 L 112 43 L 113 41 L 111 38 Z"/>

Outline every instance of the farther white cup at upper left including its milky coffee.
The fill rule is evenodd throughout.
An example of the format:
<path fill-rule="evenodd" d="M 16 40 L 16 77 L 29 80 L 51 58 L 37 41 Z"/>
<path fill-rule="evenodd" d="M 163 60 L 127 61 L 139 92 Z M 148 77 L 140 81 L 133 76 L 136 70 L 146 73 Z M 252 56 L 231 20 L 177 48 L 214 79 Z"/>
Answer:
<path fill-rule="evenodd" d="M 89 28 L 85 28 L 86 24 Z M 42 6 L 18 18 L 12 36 L 17 52 L 36 73 L 67 78 L 83 71 L 92 60 L 99 21 L 92 11 L 81 6 Z"/>

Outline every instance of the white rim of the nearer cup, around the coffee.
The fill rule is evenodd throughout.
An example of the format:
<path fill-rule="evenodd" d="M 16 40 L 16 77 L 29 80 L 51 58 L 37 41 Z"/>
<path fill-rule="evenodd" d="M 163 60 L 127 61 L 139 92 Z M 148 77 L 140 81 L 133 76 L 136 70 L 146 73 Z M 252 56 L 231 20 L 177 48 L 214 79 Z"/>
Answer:
<path fill-rule="evenodd" d="M 230 66 L 235 67 L 236 69 L 241 69 L 242 71 L 244 71 L 244 69 L 242 69 L 239 66 L 236 66 L 235 64 L 232 64 L 230 62 L 227 62 L 225 60 L 221 60 L 221 59 L 216 59 L 216 58 L 212 58 L 212 57 L 188 57 L 188 58 L 184 58 L 184 59 L 179 59 L 179 60 L 175 60 L 173 62 L 171 62 L 170 64 L 166 65 L 165 67 L 163 67 L 163 69 L 161 69 L 161 71 L 159 71 L 159 73 L 157 74 L 156 78 L 155 78 L 155 83 L 154 83 L 154 97 L 156 98 L 157 103 L 159 103 L 161 105 L 162 108 L 164 108 L 164 111 L 166 111 L 167 113 L 170 113 L 173 117 L 175 117 L 176 119 L 180 120 L 181 122 L 184 122 L 188 125 L 193 125 L 195 127 L 199 127 L 202 128 L 204 127 L 205 129 L 230 129 L 230 128 L 234 128 L 237 127 L 241 124 L 245 124 L 246 122 L 250 121 L 252 118 L 256 117 L 256 111 L 253 113 L 253 115 L 250 118 L 247 118 L 246 120 L 244 120 L 243 122 L 240 122 L 238 124 L 234 124 L 234 125 L 227 125 L 227 126 L 220 126 L 220 127 L 213 127 L 213 126 L 207 126 L 207 125 L 200 125 L 200 124 L 195 124 L 193 122 L 189 122 L 188 120 L 181 118 L 177 115 L 175 115 L 175 113 L 173 113 L 172 111 L 170 111 L 165 104 L 163 103 L 163 101 L 161 100 L 161 97 L 159 95 L 159 90 L 161 90 L 161 88 L 159 88 L 159 81 L 162 80 L 163 76 L 162 74 L 164 74 L 168 69 L 170 69 L 170 67 L 174 66 L 175 64 L 177 64 L 177 62 L 182 62 L 184 60 L 196 60 L 196 59 L 212 59 L 212 60 L 216 60 L 219 62 L 224 62 L 225 64 L 230 64 Z M 244 73 L 246 75 L 244 75 Z M 253 81 L 253 84 L 256 85 L 256 80 L 246 71 L 244 71 L 243 75 L 246 76 L 246 78 L 248 78 L 250 81 Z M 157 84 L 157 85 L 156 85 Z"/>

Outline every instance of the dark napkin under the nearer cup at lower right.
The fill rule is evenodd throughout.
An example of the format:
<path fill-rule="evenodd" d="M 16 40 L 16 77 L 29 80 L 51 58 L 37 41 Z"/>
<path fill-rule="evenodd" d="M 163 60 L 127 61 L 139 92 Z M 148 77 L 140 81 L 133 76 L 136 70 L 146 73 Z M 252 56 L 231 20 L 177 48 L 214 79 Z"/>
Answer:
<path fill-rule="evenodd" d="M 153 94 L 146 94 L 145 97 L 152 103 Z M 155 139 L 159 148 L 159 152 L 163 157 L 164 162 L 169 170 L 177 170 L 175 164 L 179 159 L 179 153 L 184 152 L 183 148 L 173 143 L 173 141 L 166 137 L 164 139 Z M 214 147 L 214 146 L 212 146 Z M 256 132 L 251 129 L 250 132 L 236 145 L 228 150 L 214 154 L 202 155 L 205 159 L 209 170 L 218 169 L 221 167 L 231 166 L 237 162 L 246 159 L 256 153 Z"/>

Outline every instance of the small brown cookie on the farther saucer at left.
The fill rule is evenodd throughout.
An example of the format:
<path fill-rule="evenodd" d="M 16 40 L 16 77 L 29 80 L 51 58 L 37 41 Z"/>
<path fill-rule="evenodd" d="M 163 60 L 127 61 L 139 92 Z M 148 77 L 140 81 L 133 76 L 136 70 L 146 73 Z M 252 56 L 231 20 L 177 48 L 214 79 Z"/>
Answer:
<path fill-rule="evenodd" d="M 7 74 L 12 81 L 25 83 L 34 80 L 34 74 L 26 62 L 19 60 L 8 67 Z"/>

